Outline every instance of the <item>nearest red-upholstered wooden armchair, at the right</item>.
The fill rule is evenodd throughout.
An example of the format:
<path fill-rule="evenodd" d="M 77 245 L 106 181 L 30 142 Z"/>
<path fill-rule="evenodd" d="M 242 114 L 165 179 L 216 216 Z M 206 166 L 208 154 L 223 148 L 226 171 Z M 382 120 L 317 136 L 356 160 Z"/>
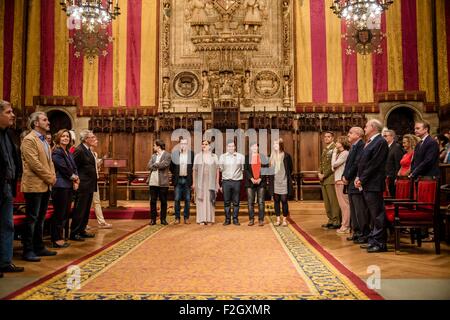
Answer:
<path fill-rule="evenodd" d="M 420 230 L 432 227 L 436 254 L 440 254 L 439 178 L 420 177 L 415 183 L 415 200 L 397 201 L 394 205 L 395 252 L 400 249 L 400 230 L 409 228 L 418 235 L 417 244 L 422 245 Z"/>

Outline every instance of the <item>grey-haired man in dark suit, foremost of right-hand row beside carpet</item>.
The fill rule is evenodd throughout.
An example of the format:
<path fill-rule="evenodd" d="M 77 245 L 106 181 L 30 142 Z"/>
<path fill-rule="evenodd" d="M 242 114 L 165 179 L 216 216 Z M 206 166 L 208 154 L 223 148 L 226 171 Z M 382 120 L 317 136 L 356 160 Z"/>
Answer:
<path fill-rule="evenodd" d="M 368 243 L 361 246 L 369 253 L 387 251 L 383 191 L 386 186 L 385 170 L 389 147 L 381 136 L 382 129 L 380 121 L 375 119 L 367 121 L 364 128 L 367 142 L 358 163 L 358 176 L 354 183 L 363 193 L 373 224 L 367 239 Z"/>

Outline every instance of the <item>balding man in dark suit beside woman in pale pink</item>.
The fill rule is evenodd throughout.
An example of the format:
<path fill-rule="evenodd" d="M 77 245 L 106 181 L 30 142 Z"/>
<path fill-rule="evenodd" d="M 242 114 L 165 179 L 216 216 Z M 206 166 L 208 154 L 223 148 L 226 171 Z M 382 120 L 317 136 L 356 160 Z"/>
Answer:
<path fill-rule="evenodd" d="M 355 187 L 355 178 L 358 174 L 358 163 L 364 148 L 364 130 L 360 127 L 353 127 L 347 134 L 348 141 L 352 144 L 345 163 L 342 180 L 348 185 L 348 199 L 350 204 L 350 224 L 353 235 L 348 237 L 348 241 L 356 244 L 367 242 L 369 236 L 369 212 L 364 202 L 362 192 Z"/>

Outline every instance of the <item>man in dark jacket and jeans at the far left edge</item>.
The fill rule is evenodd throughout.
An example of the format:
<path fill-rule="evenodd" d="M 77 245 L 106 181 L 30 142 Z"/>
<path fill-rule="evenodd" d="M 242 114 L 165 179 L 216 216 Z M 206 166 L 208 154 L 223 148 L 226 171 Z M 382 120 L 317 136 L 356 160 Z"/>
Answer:
<path fill-rule="evenodd" d="M 12 263 L 14 220 L 13 198 L 22 164 L 8 129 L 14 125 L 11 104 L 0 100 L 0 278 L 3 272 L 22 272 Z"/>

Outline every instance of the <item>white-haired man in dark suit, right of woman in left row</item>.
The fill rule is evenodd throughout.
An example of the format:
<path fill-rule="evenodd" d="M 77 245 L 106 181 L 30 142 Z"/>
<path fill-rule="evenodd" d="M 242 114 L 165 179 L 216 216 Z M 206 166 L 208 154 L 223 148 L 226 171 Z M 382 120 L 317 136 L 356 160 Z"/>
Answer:
<path fill-rule="evenodd" d="M 80 186 L 75 198 L 72 224 L 70 225 L 70 240 L 84 241 L 84 238 L 94 238 L 94 234 L 86 232 L 91 211 L 92 198 L 97 191 L 97 170 L 95 156 L 91 147 L 97 144 L 97 137 L 90 130 L 80 133 L 81 143 L 73 154 L 78 169 Z"/>

